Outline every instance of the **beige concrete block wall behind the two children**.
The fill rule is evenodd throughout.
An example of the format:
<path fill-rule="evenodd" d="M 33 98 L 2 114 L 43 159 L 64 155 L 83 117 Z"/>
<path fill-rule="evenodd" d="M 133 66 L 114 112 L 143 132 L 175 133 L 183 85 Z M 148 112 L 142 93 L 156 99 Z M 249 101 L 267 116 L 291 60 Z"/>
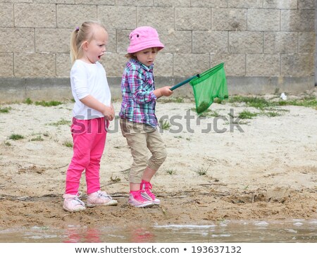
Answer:
<path fill-rule="evenodd" d="M 158 86 L 225 62 L 232 94 L 304 91 L 315 83 L 315 2 L 0 0 L 0 101 L 71 97 L 69 37 L 85 20 L 107 27 L 102 63 L 115 96 L 128 35 L 142 25 L 166 46 L 156 59 Z"/>

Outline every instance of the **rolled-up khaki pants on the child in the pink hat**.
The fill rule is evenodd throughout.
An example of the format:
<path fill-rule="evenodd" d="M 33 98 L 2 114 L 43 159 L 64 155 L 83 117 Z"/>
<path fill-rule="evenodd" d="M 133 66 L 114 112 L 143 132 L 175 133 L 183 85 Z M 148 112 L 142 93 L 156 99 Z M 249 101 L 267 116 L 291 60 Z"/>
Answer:
<path fill-rule="evenodd" d="M 120 119 L 120 127 L 133 157 L 130 182 L 140 183 L 145 168 L 159 170 L 166 159 L 166 146 L 155 127 L 144 123 L 132 123 L 125 119 Z M 151 152 L 150 158 L 149 151 Z"/>

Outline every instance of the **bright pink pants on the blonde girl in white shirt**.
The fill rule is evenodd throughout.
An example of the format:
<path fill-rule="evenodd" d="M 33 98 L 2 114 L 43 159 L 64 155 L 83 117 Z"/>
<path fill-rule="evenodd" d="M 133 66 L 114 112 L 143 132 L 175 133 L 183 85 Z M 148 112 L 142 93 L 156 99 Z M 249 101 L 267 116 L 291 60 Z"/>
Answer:
<path fill-rule="evenodd" d="M 87 194 L 92 194 L 100 189 L 100 161 L 104 153 L 107 133 L 105 120 L 73 118 L 70 130 L 74 146 L 73 158 L 66 173 L 66 194 L 77 194 L 84 170 L 86 170 Z"/>

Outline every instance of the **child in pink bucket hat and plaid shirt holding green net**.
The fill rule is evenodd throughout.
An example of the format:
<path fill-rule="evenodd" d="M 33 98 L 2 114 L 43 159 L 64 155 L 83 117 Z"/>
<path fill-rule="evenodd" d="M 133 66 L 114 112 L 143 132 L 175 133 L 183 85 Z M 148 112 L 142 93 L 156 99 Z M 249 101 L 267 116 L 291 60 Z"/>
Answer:
<path fill-rule="evenodd" d="M 155 105 L 159 97 L 173 94 L 170 87 L 155 89 L 154 86 L 154 61 L 163 47 L 153 27 L 137 27 L 130 33 L 119 115 L 121 131 L 133 157 L 128 201 L 135 207 L 161 203 L 151 192 L 151 178 L 166 159 L 166 146 L 157 130 Z"/>

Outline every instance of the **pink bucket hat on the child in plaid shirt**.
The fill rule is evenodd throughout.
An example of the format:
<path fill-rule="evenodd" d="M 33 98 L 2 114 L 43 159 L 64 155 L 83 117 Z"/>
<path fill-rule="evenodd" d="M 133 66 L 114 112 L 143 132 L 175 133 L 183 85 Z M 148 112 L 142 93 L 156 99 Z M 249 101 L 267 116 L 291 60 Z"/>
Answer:
<path fill-rule="evenodd" d="M 130 33 L 129 39 L 129 54 L 151 47 L 157 47 L 159 50 L 164 48 L 164 45 L 160 42 L 159 34 L 153 27 L 137 27 Z"/>

